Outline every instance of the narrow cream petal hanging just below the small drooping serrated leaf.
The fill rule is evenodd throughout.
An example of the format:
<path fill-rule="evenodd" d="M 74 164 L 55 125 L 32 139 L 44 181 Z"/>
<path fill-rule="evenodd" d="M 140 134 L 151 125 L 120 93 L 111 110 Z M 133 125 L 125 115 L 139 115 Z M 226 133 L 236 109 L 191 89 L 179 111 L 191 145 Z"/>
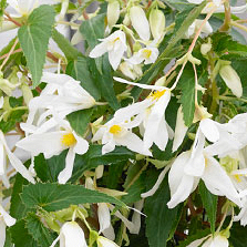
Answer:
<path fill-rule="evenodd" d="M 188 127 L 184 123 L 184 114 L 182 112 L 182 106 L 179 106 L 179 109 L 177 111 L 175 136 L 174 136 L 174 141 L 173 141 L 173 152 L 177 151 L 177 148 L 183 143 L 187 130 L 188 130 Z"/>

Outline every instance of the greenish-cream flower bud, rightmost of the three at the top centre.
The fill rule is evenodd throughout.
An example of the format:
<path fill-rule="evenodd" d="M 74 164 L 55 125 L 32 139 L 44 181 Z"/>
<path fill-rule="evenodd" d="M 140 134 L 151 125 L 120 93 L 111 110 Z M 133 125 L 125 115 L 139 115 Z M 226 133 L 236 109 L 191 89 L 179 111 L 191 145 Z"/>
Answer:
<path fill-rule="evenodd" d="M 158 9 L 152 9 L 150 13 L 151 32 L 155 40 L 158 40 L 164 34 L 165 16 Z"/>

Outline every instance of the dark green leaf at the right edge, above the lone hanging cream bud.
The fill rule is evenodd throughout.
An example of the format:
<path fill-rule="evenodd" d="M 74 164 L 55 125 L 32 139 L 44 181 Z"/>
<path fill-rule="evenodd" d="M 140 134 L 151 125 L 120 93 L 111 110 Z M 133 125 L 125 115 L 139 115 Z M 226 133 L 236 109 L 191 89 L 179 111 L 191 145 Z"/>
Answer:
<path fill-rule="evenodd" d="M 245 59 L 247 56 L 247 45 L 241 44 L 233 38 L 223 32 L 215 33 L 212 35 L 214 51 L 220 59 Z"/>

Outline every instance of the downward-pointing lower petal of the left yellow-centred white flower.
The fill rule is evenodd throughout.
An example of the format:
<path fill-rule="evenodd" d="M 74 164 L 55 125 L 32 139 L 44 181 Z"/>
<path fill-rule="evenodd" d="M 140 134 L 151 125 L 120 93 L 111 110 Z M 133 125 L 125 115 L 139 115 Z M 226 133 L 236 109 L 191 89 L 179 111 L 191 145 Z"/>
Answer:
<path fill-rule="evenodd" d="M 65 168 L 60 172 L 58 181 L 60 184 L 65 184 L 72 176 L 73 165 L 74 165 L 75 153 L 73 148 L 70 148 L 65 158 Z"/>

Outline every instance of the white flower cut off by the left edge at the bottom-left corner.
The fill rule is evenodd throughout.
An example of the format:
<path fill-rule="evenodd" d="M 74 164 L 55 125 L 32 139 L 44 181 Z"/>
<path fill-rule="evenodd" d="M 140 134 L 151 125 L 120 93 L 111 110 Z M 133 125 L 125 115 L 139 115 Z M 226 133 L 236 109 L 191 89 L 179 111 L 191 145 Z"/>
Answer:
<path fill-rule="evenodd" d="M 0 247 L 6 243 L 6 226 L 13 226 L 16 222 L 16 218 L 12 218 L 0 204 Z"/>

